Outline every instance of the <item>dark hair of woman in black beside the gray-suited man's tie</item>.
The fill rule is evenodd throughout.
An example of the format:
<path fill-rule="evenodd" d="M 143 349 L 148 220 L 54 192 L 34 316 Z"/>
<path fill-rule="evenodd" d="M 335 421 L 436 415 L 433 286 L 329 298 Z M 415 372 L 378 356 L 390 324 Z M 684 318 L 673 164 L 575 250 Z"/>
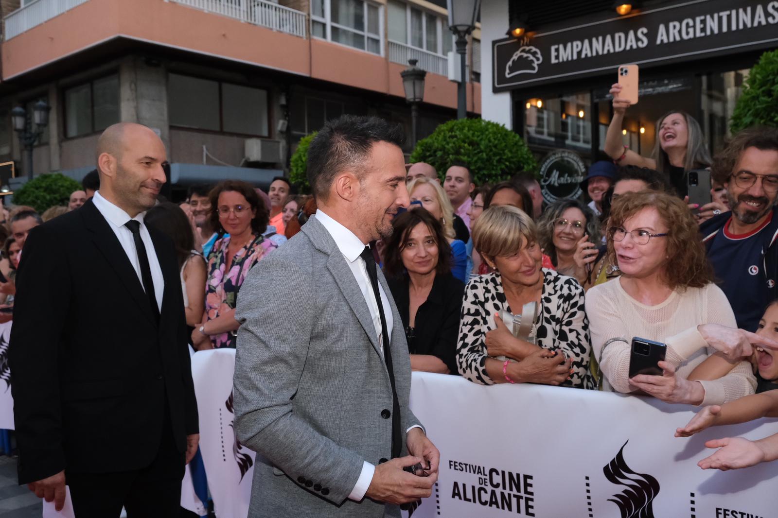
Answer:
<path fill-rule="evenodd" d="M 402 250 L 405 250 L 411 231 L 419 223 L 424 223 L 433 233 L 433 239 L 438 247 L 436 273 L 446 274 L 451 271 L 451 246 L 443 233 L 443 225 L 426 208 L 415 207 L 398 215 L 391 222 L 394 232 L 386 242 L 384 254 L 384 272 L 387 277 L 398 277 L 405 272 Z"/>

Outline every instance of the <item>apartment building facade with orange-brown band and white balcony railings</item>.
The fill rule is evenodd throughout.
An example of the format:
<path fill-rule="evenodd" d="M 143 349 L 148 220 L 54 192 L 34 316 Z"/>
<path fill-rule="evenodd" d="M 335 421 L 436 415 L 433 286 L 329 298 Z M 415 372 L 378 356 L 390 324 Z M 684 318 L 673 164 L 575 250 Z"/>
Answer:
<path fill-rule="evenodd" d="M 408 59 L 428 72 L 423 137 L 456 116 L 445 5 L 0 0 L 0 163 L 12 161 L 16 176 L 26 176 L 26 153 L 9 114 L 16 106 L 30 114 L 43 99 L 50 122 L 33 149 L 36 174 L 81 177 L 94 167 L 100 132 L 134 121 L 165 142 L 173 184 L 219 177 L 262 184 L 286 169 L 303 135 L 340 114 L 376 114 L 409 130 L 400 75 Z M 477 28 L 466 72 L 468 112 L 475 115 L 479 40 Z"/>

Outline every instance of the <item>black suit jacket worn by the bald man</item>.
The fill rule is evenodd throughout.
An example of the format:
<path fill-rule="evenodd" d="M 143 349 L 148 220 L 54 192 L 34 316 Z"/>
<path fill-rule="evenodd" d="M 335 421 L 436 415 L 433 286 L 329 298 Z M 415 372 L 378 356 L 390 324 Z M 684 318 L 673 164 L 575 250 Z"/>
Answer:
<path fill-rule="evenodd" d="M 148 466 L 165 415 L 180 451 L 198 432 L 173 243 L 148 229 L 165 279 L 159 324 L 91 200 L 30 232 L 9 345 L 19 484 Z"/>

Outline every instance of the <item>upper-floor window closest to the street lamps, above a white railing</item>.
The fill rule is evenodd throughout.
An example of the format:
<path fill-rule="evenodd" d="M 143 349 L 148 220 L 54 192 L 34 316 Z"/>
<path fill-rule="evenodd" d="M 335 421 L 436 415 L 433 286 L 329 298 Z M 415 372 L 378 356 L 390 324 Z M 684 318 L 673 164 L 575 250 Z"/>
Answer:
<path fill-rule="evenodd" d="M 387 2 L 387 13 L 389 40 L 394 43 L 440 55 L 448 54 L 454 47 L 454 35 L 441 16 L 398 0 Z"/>

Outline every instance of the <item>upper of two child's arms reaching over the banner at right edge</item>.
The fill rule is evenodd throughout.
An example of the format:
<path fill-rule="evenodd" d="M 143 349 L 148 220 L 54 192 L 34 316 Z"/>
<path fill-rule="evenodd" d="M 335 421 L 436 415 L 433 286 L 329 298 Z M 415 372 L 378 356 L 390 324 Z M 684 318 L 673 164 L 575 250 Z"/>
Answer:
<path fill-rule="evenodd" d="M 676 437 L 689 437 L 713 425 L 734 425 L 762 417 L 778 417 L 778 390 L 741 397 L 719 406 L 705 407 L 684 428 L 675 430 Z"/>

